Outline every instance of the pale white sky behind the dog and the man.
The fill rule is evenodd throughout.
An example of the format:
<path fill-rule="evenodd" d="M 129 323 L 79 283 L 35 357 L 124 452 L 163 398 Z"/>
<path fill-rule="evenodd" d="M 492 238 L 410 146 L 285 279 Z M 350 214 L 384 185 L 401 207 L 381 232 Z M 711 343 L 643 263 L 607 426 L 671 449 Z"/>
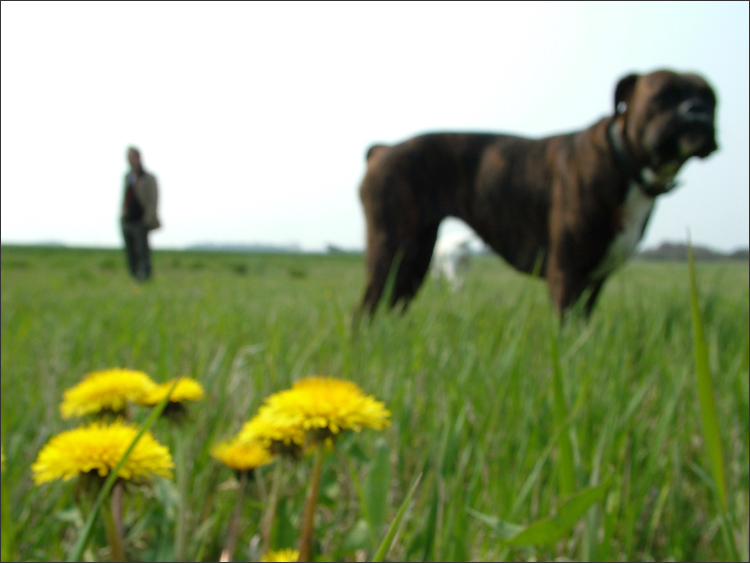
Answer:
<path fill-rule="evenodd" d="M 120 246 L 126 147 L 160 185 L 156 248 L 364 246 L 374 142 L 543 136 L 667 67 L 716 88 L 720 152 L 642 247 L 748 246 L 748 3 L 2 3 L 3 243 Z M 455 222 L 448 231 L 461 231 Z"/>

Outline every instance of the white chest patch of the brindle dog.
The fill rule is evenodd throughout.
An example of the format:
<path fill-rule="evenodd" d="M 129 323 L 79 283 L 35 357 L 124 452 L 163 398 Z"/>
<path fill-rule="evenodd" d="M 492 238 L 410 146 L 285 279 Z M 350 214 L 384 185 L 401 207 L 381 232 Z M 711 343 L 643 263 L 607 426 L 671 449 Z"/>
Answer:
<path fill-rule="evenodd" d="M 635 250 L 643 232 L 643 225 L 654 207 L 654 198 L 644 194 L 636 185 L 631 185 L 620 215 L 621 230 L 612 240 L 604 258 L 592 272 L 592 279 L 599 279 L 619 268 Z"/>

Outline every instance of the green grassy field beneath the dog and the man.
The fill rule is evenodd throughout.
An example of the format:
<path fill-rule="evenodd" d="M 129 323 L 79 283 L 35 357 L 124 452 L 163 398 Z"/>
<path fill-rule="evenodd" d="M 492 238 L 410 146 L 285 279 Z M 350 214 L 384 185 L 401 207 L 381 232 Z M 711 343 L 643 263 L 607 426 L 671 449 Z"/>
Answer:
<path fill-rule="evenodd" d="M 63 391 L 111 367 L 206 388 L 182 429 L 190 561 L 218 560 L 234 506 L 235 477 L 210 447 L 264 397 L 313 374 L 353 380 L 392 413 L 389 428 L 347 436 L 325 459 L 319 560 L 372 557 L 420 473 L 390 560 L 748 557 L 747 264 L 696 266 L 726 513 L 701 425 L 686 264 L 629 263 L 588 324 L 558 330 L 541 282 L 484 257 L 460 294 L 429 280 L 406 315 L 379 316 L 356 337 L 361 256 L 157 252 L 154 270 L 138 286 L 120 251 L 3 247 L 6 557 L 64 559 L 79 536 L 86 514 L 74 482 L 37 487 L 30 465 L 75 426 L 61 419 Z M 166 421 L 154 434 L 174 438 Z M 269 547 L 259 529 L 273 475 L 282 495 L 270 547 L 296 546 L 310 466 L 258 472 L 236 560 Z M 586 491 L 601 494 L 564 522 Z M 166 479 L 128 491 L 131 560 L 173 557 L 177 495 Z M 538 522 L 561 533 L 509 541 L 515 526 Z M 85 557 L 109 557 L 103 528 Z"/>

